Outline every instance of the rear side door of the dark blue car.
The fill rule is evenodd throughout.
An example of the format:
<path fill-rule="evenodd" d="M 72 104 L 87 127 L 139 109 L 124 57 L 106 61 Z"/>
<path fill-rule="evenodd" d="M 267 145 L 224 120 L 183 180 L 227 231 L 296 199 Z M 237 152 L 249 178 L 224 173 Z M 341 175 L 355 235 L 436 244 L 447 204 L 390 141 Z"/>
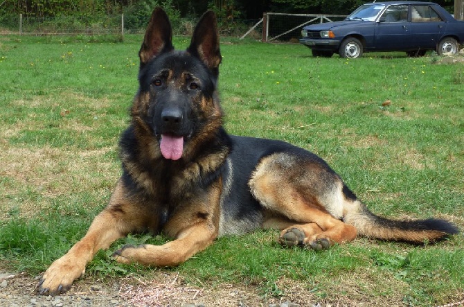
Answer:
<path fill-rule="evenodd" d="M 447 23 L 428 5 L 411 6 L 411 39 L 414 49 L 436 49 Z"/>

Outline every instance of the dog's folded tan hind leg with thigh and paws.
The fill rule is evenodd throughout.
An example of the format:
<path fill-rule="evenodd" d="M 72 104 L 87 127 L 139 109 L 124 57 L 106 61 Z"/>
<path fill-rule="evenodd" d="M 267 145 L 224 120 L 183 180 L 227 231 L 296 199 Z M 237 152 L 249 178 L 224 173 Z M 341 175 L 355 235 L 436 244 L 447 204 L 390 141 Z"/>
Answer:
<path fill-rule="evenodd" d="M 264 227 L 282 229 L 283 245 L 314 249 L 353 240 L 357 231 L 340 218 L 347 200 L 343 184 L 321 159 L 285 152 L 263 158 L 253 173 L 251 193 L 274 216 Z"/>

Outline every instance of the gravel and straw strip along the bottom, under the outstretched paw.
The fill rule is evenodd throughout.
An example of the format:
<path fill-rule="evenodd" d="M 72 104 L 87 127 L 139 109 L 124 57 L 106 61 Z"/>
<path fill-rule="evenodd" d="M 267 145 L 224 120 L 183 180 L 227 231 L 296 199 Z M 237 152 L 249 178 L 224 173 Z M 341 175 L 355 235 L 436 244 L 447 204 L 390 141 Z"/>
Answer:
<path fill-rule="evenodd" d="M 305 297 L 298 297 L 298 304 L 285 298 L 264 300 L 258 290 L 238 285 L 221 285 L 215 289 L 188 286 L 175 272 L 160 272 L 156 281 L 133 276 L 118 277 L 114 281 L 92 278 L 75 282 L 64 295 L 44 297 L 35 294 L 40 277 L 0 272 L 0 307 L 320 306 L 308 304 Z"/>

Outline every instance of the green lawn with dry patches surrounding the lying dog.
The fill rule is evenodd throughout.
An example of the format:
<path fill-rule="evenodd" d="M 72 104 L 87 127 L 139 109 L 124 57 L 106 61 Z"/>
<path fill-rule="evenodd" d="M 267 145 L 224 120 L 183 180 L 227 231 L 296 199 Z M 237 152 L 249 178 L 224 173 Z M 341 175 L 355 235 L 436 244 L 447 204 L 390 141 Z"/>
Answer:
<path fill-rule="evenodd" d="M 0 38 L 0 268 L 37 274 L 82 237 L 120 174 L 117 141 L 137 87 L 141 35 Z M 175 38 L 177 46 L 188 40 Z M 372 53 L 312 58 L 300 45 L 224 40 L 226 128 L 318 153 L 375 213 L 464 227 L 463 64 Z M 390 100 L 390 105 L 382 105 Z M 176 267 L 189 283 L 295 285 L 332 304 L 438 306 L 464 299 L 461 235 L 425 247 L 359 238 L 283 249 L 277 231 L 228 236 Z M 157 270 L 100 252 L 87 274 Z M 289 282 L 292 281 L 292 282 Z"/>

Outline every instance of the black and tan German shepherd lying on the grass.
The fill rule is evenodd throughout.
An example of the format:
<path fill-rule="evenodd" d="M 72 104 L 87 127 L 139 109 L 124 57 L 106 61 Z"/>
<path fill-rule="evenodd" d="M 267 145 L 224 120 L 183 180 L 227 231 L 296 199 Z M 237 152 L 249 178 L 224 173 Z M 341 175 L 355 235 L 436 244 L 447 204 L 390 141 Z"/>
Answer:
<path fill-rule="evenodd" d="M 375 216 L 314 153 L 227 134 L 213 12 L 199 20 L 188 49 L 175 51 L 168 16 L 156 8 L 139 57 L 139 91 L 120 141 L 123 175 L 84 238 L 46 270 L 40 294 L 69 290 L 99 249 L 141 231 L 163 231 L 173 240 L 126 245 L 114 252 L 116 261 L 175 266 L 217 236 L 260 227 L 282 230 L 282 245 L 316 250 L 356 236 L 420 244 L 458 233 L 445 220 Z"/>

